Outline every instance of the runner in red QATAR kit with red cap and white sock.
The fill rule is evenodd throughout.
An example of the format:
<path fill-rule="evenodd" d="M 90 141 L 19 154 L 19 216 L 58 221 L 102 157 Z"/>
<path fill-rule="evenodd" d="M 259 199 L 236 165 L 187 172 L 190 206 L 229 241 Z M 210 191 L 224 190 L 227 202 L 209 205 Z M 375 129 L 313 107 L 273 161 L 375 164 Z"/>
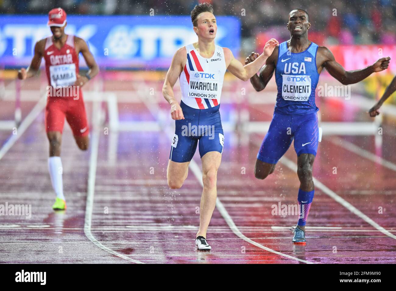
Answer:
<path fill-rule="evenodd" d="M 57 196 L 52 208 L 57 210 L 66 209 L 60 158 L 65 118 L 78 147 L 81 150 L 88 149 L 89 129 L 81 87 L 99 72 L 99 68 L 86 42 L 77 36 L 65 34 L 66 12 L 62 8 L 49 11 L 48 18 L 52 36 L 36 43 L 30 66 L 21 68 L 18 78 L 25 80 L 35 76 L 44 57 L 49 84 L 45 118 L 49 141 L 48 169 Z M 78 68 L 79 53 L 89 67 L 84 76 L 80 76 Z"/>

